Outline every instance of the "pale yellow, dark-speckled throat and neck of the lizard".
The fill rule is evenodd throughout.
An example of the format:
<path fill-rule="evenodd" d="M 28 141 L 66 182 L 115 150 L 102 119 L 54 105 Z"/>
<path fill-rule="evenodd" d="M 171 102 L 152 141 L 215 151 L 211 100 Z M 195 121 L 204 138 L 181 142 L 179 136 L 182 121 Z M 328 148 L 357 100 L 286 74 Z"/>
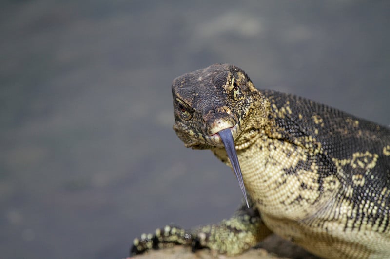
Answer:
<path fill-rule="evenodd" d="M 315 161 L 301 146 L 270 138 L 259 130 L 250 141 L 238 146 L 245 187 L 254 205 L 262 215 L 271 218 L 302 220 L 311 217 L 328 203 L 339 181 L 328 176 L 324 184 Z M 223 148 L 213 149 L 214 154 L 231 166 Z M 323 186 L 326 190 L 320 192 Z M 313 209 L 317 208 L 317 209 Z"/>

